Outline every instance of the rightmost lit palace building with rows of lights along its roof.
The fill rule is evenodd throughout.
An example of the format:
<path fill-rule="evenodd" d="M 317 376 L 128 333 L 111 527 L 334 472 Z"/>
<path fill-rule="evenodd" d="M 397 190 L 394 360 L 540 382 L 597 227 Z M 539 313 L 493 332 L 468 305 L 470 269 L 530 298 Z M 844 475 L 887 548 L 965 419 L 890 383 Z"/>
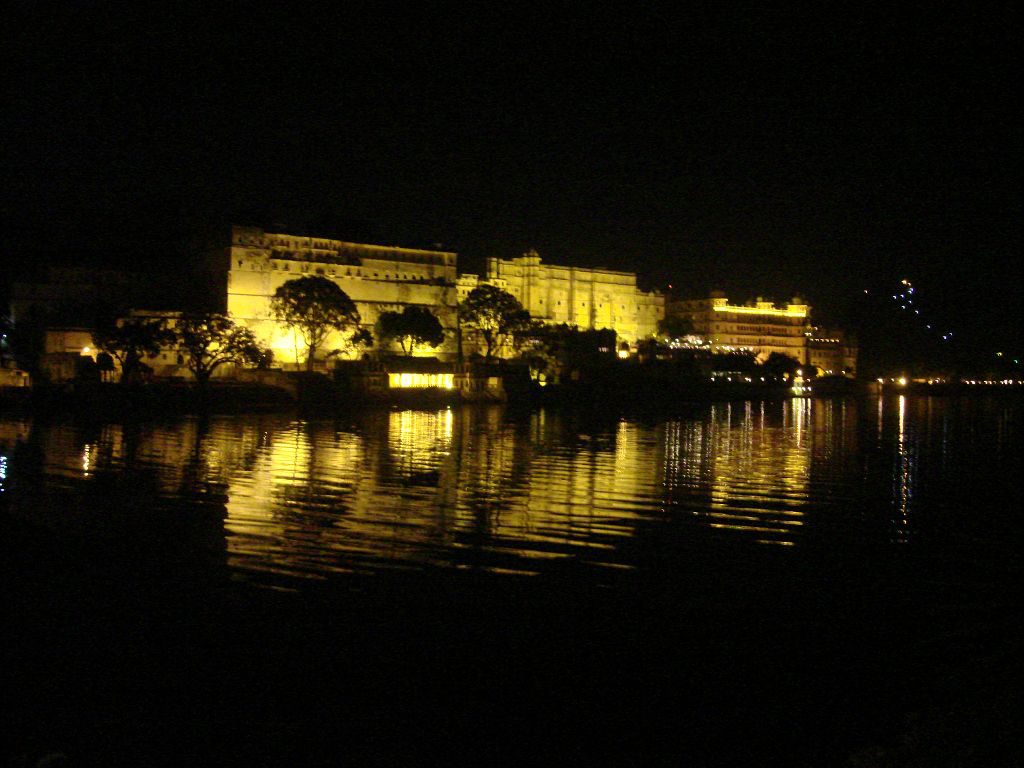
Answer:
<path fill-rule="evenodd" d="M 671 309 L 690 321 L 713 351 L 749 349 L 761 361 L 778 352 L 823 374 L 856 374 L 856 341 L 842 331 L 812 326 L 811 307 L 799 297 L 778 306 L 761 297 L 739 305 L 713 291 L 708 298 L 680 301 Z"/>

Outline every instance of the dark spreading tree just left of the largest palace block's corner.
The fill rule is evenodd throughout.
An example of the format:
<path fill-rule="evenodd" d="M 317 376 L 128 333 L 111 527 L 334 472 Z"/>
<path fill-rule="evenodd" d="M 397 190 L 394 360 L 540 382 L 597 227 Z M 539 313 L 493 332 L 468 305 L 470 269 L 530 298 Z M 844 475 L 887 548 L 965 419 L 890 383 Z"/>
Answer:
<path fill-rule="evenodd" d="M 183 314 L 175 330 L 185 365 L 201 385 L 225 362 L 257 365 L 264 356 L 253 332 L 224 314 Z"/>

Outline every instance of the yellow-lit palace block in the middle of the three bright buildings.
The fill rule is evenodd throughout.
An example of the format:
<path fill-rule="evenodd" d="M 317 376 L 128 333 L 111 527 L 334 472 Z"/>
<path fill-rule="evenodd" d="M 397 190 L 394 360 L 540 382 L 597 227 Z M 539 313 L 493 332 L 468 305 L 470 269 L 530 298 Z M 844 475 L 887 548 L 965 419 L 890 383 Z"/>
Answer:
<path fill-rule="evenodd" d="M 460 299 L 477 282 L 477 275 L 463 275 Z M 544 264 L 536 251 L 487 259 L 483 282 L 508 291 L 538 319 L 583 330 L 607 328 L 631 342 L 652 336 L 665 316 L 665 297 L 639 290 L 635 273 Z"/>

